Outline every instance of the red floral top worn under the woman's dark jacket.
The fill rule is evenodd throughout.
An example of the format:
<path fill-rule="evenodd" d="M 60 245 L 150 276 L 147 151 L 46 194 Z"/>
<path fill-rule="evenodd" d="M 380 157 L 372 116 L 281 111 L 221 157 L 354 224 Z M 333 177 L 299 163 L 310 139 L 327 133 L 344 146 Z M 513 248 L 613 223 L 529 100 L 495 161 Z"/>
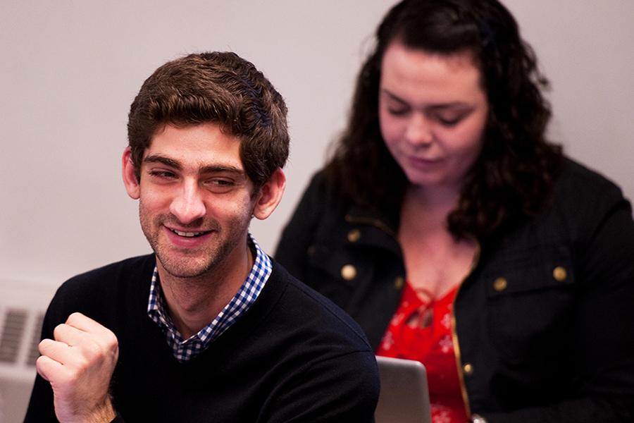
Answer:
<path fill-rule="evenodd" d="M 458 287 L 436 300 L 421 300 L 406 284 L 377 355 L 418 360 L 425 364 L 433 423 L 467 421 L 454 344 L 452 307 Z"/>

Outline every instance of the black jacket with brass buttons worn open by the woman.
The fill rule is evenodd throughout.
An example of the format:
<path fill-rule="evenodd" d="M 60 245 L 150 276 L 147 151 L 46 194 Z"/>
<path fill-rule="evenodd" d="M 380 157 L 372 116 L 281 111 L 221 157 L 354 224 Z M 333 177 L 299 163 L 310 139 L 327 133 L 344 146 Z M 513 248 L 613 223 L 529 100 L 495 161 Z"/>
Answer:
<path fill-rule="evenodd" d="M 405 280 L 397 219 L 347 204 L 322 173 L 275 259 L 377 348 Z M 621 190 L 571 160 L 545 207 L 480 244 L 454 302 L 470 412 L 489 422 L 634 422 L 634 221 Z"/>

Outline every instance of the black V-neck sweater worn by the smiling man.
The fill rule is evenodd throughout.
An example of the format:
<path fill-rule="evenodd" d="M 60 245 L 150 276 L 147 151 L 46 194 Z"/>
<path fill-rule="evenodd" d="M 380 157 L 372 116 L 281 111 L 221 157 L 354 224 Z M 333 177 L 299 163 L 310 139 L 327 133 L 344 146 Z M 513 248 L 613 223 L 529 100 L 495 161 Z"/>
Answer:
<path fill-rule="evenodd" d="M 372 422 L 374 353 L 359 326 L 279 264 L 259 298 L 209 348 L 178 362 L 147 316 L 154 255 L 75 276 L 46 312 L 43 338 L 72 312 L 113 331 L 113 403 L 126 422 Z M 55 422 L 37 376 L 25 422 Z"/>

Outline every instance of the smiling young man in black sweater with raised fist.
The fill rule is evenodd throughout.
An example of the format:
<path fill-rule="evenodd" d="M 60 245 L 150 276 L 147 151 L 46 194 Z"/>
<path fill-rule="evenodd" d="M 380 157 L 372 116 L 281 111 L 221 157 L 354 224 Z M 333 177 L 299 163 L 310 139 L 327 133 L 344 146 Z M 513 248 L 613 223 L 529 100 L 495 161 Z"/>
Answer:
<path fill-rule="evenodd" d="M 26 422 L 371 422 L 361 329 L 249 234 L 285 188 L 286 106 L 232 53 L 166 63 L 130 108 L 123 181 L 153 255 L 49 306 Z"/>

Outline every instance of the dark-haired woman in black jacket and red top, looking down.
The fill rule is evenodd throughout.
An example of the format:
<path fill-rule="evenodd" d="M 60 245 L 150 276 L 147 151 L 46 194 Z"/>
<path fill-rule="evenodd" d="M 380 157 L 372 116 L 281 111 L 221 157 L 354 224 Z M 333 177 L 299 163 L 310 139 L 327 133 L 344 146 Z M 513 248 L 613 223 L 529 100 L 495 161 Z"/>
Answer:
<path fill-rule="evenodd" d="M 436 422 L 634 421 L 632 210 L 547 142 L 546 87 L 498 1 L 402 1 L 278 246 Z"/>

